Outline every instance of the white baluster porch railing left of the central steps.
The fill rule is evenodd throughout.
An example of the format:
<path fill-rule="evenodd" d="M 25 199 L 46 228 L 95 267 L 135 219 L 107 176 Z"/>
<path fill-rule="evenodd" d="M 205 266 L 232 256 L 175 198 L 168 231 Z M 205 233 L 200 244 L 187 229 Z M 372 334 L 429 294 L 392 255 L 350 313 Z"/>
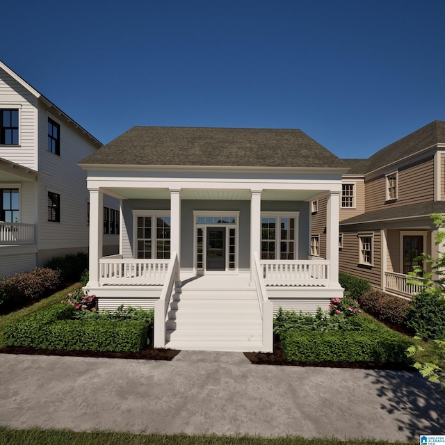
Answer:
<path fill-rule="evenodd" d="M 159 284 L 163 285 L 170 259 L 117 258 L 99 259 L 99 283 L 103 284 Z"/>

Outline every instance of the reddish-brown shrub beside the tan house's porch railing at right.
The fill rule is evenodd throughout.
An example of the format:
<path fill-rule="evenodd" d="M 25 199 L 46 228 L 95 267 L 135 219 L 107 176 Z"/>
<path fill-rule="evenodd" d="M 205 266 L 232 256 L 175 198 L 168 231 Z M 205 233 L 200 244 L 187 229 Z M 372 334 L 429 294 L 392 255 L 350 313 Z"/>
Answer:
<path fill-rule="evenodd" d="M 365 292 L 358 300 L 364 311 L 381 321 L 389 321 L 401 326 L 407 324 L 407 311 L 411 305 L 409 300 L 375 289 Z"/>

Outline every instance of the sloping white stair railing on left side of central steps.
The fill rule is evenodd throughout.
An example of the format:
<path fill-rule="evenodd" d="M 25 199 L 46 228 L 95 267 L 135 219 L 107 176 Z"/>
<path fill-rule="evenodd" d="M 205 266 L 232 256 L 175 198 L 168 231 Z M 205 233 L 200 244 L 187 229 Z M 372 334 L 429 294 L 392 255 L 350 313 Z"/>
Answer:
<path fill-rule="evenodd" d="M 167 318 L 170 298 L 172 298 L 173 288 L 177 281 L 179 272 L 179 260 L 177 252 L 172 252 L 172 259 L 168 266 L 168 274 L 165 277 L 165 283 L 162 288 L 159 300 L 154 303 L 154 328 L 153 328 L 153 346 L 155 348 L 165 347 L 165 318 Z"/>

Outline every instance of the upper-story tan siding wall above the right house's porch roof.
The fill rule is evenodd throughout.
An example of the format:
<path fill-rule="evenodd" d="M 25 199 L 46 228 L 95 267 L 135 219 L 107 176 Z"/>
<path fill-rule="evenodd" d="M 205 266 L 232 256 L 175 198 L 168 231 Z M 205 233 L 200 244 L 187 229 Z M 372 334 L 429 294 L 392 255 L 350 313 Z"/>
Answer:
<path fill-rule="evenodd" d="M 396 169 L 394 169 L 396 170 Z M 388 170 L 388 173 L 394 170 Z M 434 200 L 434 159 L 398 169 L 398 200 L 386 202 L 385 175 L 366 181 L 366 211 Z"/>

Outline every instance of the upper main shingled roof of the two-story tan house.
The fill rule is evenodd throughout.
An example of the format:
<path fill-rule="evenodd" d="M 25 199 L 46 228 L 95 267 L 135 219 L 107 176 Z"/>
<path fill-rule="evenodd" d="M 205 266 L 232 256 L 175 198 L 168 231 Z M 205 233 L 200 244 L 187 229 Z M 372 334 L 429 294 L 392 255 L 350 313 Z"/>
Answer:
<path fill-rule="evenodd" d="M 350 167 L 348 175 L 364 175 L 438 143 L 445 143 L 445 122 L 442 120 L 435 120 L 380 149 L 369 159 L 343 159 L 343 163 Z"/>

